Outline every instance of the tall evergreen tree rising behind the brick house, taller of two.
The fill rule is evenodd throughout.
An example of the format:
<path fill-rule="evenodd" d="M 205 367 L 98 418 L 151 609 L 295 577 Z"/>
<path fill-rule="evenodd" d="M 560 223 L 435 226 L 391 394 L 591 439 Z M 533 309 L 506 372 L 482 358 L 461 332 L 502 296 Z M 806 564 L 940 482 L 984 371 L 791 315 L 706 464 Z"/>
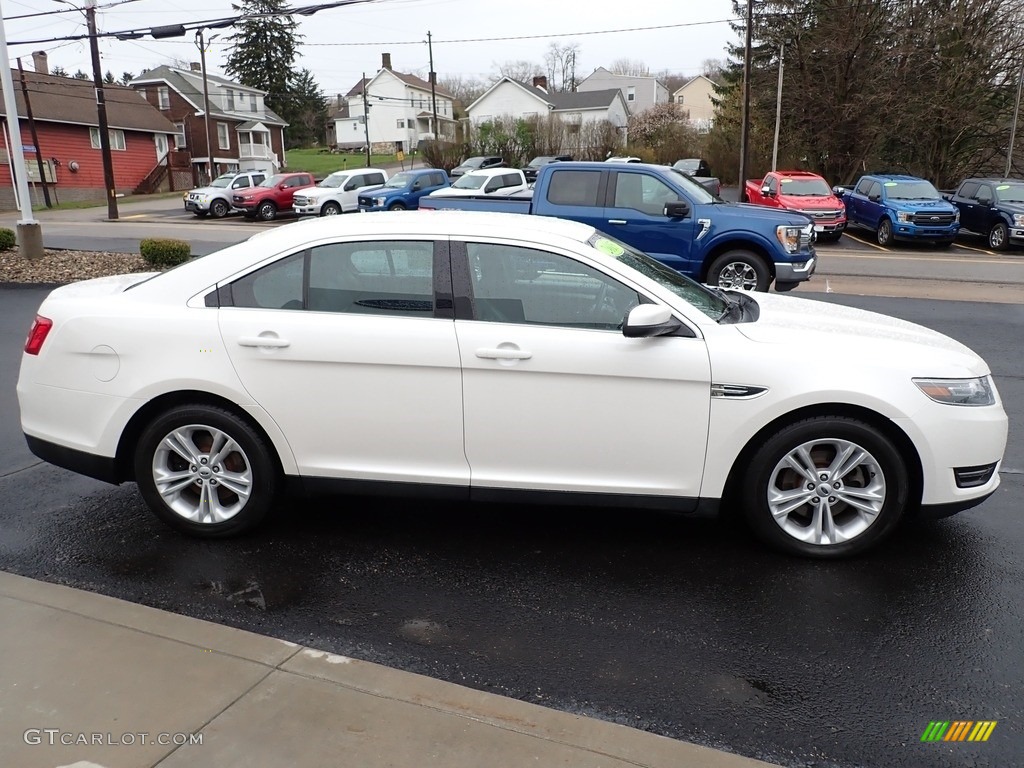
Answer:
<path fill-rule="evenodd" d="M 224 71 L 238 82 L 267 92 L 266 104 L 292 123 L 295 58 L 301 35 L 285 0 L 242 0 L 231 8 L 244 16 L 227 40 Z"/>

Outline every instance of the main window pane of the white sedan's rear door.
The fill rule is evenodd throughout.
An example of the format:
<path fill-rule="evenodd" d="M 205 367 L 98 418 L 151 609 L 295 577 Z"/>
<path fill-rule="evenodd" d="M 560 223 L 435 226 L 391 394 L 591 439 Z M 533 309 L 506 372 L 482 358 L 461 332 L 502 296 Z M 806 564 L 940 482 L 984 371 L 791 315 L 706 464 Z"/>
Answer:
<path fill-rule="evenodd" d="M 333 243 L 309 252 L 307 308 L 431 317 L 433 243 Z"/>

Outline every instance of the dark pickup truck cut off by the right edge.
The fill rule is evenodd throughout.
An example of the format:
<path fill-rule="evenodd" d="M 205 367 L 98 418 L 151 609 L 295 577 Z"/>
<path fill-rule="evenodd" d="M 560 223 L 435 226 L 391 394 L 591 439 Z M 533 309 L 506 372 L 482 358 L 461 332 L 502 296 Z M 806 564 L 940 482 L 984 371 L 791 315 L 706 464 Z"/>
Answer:
<path fill-rule="evenodd" d="M 1024 181 L 969 178 L 943 197 L 961 212 L 961 228 L 984 234 L 993 251 L 1024 245 Z"/>

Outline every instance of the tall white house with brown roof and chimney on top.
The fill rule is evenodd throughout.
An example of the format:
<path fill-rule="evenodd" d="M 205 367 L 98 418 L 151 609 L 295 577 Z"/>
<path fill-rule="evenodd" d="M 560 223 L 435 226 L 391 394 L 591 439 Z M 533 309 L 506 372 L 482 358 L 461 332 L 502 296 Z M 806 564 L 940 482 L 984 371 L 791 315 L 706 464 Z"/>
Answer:
<path fill-rule="evenodd" d="M 364 91 L 366 99 L 364 100 Z M 435 85 L 437 129 L 433 125 L 434 104 L 430 83 L 416 75 L 391 69 L 391 54 L 381 56 L 381 69 L 372 78 L 359 81 L 345 94 L 347 110 L 334 116 L 335 143 L 340 148 L 370 145 L 374 152 L 410 152 L 421 141 L 455 136 L 455 97 Z M 368 121 L 369 114 L 369 121 Z"/>

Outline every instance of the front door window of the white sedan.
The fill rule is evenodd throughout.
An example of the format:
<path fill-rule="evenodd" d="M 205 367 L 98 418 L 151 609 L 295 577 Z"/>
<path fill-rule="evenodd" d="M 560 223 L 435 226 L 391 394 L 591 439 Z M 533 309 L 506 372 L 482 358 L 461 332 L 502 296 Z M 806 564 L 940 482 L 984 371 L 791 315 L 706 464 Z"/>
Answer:
<path fill-rule="evenodd" d="M 474 316 L 492 323 L 618 330 L 636 291 L 574 259 L 467 243 Z"/>

